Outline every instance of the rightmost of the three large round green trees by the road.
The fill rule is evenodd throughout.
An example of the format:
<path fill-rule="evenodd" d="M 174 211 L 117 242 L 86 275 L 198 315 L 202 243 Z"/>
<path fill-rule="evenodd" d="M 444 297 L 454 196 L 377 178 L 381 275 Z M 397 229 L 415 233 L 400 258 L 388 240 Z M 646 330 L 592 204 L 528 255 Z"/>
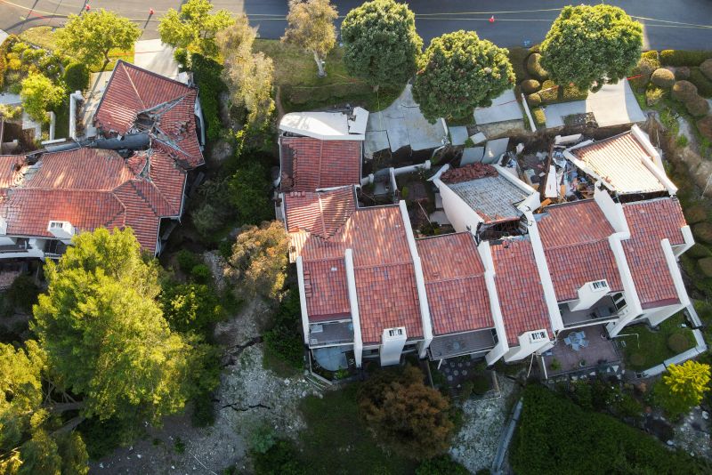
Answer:
<path fill-rule="evenodd" d="M 558 85 L 596 91 L 626 77 L 642 46 L 643 27 L 619 7 L 565 6 L 541 44 L 541 64 Z"/>

